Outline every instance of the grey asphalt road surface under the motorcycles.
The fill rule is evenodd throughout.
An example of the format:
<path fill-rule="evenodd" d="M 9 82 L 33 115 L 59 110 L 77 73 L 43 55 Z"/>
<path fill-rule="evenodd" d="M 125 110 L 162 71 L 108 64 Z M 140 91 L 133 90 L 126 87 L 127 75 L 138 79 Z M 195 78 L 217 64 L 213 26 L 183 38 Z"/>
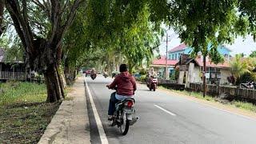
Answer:
<path fill-rule="evenodd" d="M 111 78 L 98 76 L 94 81 L 86 78 L 108 143 L 136 144 L 254 144 L 256 121 L 225 110 L 218 110 L 184 97 L 167 94 L 146 86 L 136 91 L 136 115 L 140 120 L 130 127 L 126 136 L 118 127 L 109 126 L 107 109 L 110 94 L 106 84 Z M 92 143 L 101 143 L 94 112 L 87 97 Z"/>

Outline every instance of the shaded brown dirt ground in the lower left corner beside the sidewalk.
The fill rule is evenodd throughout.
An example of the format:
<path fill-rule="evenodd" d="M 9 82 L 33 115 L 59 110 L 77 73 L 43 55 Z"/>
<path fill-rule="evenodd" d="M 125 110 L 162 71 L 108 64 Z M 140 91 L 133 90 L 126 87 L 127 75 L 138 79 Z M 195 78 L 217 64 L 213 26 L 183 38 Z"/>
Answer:
<path fill-rule="evenodd" d="M 37 143 L 60 102 L 0 107 L 0 143 Z"/>

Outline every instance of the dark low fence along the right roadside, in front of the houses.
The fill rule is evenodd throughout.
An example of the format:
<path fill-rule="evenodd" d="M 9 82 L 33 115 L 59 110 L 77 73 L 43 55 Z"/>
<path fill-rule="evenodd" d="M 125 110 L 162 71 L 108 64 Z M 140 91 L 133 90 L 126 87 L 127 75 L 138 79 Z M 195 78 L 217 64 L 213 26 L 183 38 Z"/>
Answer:
<path fill-rule="evenodd" d="M 202 91 L 202 84 L 190 83 L 190 90 L 192 91 Z M 228 94 L 233 98 L 244 98 L 247 100 L 252 100 L 256 102 L 256 90 L 243 89 L 239 86 L 216 86 L 216 85 L 206 85 L 206 92 L 208 94 Z"/>

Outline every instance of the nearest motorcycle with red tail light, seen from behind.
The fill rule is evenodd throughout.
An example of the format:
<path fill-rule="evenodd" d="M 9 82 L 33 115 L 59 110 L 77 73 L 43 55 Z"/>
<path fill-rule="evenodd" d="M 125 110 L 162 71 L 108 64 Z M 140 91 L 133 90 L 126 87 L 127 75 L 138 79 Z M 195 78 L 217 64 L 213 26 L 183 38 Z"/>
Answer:
<path fill-rule="evenodd" d="M 133 118 L 135 114 L 135 100 L 134 98 L 126 98 L 115 104 L 114 118 L 111 121 L 110 126 L 118 126 L 122 135 L 126 135 L 129 130 L 129 126 L 133 126 L 138 121 L 138 117 Z"/>

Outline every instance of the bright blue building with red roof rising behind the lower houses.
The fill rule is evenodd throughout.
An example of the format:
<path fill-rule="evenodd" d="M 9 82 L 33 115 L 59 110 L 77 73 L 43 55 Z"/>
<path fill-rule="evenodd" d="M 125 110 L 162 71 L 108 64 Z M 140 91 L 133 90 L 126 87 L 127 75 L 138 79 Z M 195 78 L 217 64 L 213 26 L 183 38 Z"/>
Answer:
<path fill-rule="evenodd" d="M 208 49 L 210 50 L 210 44 L 208 45 Z M 227 61 L 230 60 L 231 50 L 228 47 L 219 45 L 217 49 L 218 52 L 227 59 Z M 190 46 L 186 46 L 185 43 L 182 43 L 168 51 L 168 59 L 179 60 L 181 54 L 191 54 L 192 50 L 193 49 Z"/>

